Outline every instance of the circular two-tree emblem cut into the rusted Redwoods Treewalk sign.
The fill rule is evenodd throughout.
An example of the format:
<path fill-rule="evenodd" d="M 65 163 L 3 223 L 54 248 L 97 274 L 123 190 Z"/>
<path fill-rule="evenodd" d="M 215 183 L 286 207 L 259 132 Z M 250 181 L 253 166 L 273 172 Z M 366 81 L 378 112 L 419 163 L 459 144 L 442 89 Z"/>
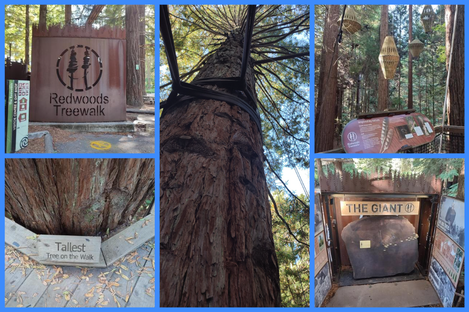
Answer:
<path fill-rule="evenodd" d="M 67 68 L 67 74 L 64 75 L 64 77 L 61 76 L 59 70 L 61 62 L 64 62 L 65 64 L 62 66 Z M 94 81 L 89 81 L 89 76 L 91 76 L 89 71 L 93 70 L 93 64 L 99 64 L 99 75 L 98 78 L 93 79 Z M 98 53 L 90 47 L 83 46 L 81 44 L 72 45 L 65 49 L 59 56 L 56 71 L 57 78 L 59 78 L 60 82 L 67 87 L 67 89 L 76 92 L 88 91 L 97 85 L 99 79 L 101 79 L 101 75 L 103 74 L 103 63 L 101 62 L 101 58 Z M 75 85 L 79 84 L 80 87 L 74 87 L 74 83 Z"/>

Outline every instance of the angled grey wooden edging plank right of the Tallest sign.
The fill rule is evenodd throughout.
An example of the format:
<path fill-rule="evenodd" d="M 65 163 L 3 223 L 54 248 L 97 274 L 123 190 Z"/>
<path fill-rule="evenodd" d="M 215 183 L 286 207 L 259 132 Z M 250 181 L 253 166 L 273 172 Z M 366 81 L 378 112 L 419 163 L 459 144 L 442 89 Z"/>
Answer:
<path fill-rule="evenodd" d="M 126 241 L 126 238 L 135 237 L 135 233 L 138 233 L 137 238 L 129 239 L 133 244 L 128 243 L 128 241 Z M 154 237 L 155 215 L 153 206 L 151 213 L 145 218 L 135 222 L 131 226 L 115 234 L 114 236 L 112 236 L 107 241 L 104 241 L 101 244 L 101 250 L 103 251 L 107 265 L 110 266 L 112 263 L 119 260 L 119 258 L 121 258 L 123 255 L 130 253 L 138 246 L 142 245 L 147 240 L 150 240 Z"/>

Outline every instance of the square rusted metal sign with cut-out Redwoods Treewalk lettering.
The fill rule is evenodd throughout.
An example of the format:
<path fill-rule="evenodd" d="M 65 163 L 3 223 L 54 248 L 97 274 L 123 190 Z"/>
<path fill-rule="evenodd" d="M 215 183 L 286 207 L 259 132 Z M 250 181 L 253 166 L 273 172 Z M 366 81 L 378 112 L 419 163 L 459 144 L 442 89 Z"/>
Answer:
<path fill-rule="evenodd" d="M 125 32 L 33 27 L 30 120 L 126 120 Z"/>

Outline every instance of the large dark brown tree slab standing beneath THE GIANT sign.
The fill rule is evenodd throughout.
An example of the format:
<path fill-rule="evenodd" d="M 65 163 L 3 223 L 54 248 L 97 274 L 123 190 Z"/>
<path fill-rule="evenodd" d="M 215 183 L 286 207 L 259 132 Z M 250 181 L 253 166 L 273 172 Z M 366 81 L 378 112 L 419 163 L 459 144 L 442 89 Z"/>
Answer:
<path fill-rule="evenodd" d="M 418 235 L 403 216 L 365 216 L 341 233 L 354 278 L 410 273 L 419 254 Z"/>

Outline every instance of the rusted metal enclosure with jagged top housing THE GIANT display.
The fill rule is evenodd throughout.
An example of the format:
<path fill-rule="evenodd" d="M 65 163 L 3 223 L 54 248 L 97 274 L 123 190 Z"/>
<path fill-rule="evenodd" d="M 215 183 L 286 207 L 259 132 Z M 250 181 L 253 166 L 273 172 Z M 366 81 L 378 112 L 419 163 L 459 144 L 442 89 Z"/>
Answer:
<path fill-rule="evenodd" d="M 320 169 L 318 174 L 315 203 L 324 216 L 336 282 L 343 266 L 352 266 L 355 279 L 373 277 L 375 282 L 399 273 L 428 274 L 440 179 L 392 171 L 366 175 Z"/>

